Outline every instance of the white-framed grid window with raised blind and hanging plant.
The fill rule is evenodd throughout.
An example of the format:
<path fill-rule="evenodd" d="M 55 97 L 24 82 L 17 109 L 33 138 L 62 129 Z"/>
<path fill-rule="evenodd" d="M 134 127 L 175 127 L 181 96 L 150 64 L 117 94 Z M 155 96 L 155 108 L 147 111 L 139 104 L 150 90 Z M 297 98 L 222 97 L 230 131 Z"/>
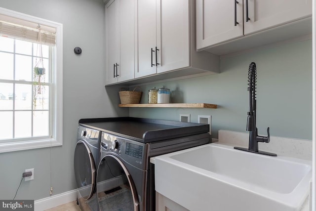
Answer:
<path fill-rule="evenodd" d="M 62 145 L 62 24 L 0 7 L 0 128 L 0 152 Z"/>

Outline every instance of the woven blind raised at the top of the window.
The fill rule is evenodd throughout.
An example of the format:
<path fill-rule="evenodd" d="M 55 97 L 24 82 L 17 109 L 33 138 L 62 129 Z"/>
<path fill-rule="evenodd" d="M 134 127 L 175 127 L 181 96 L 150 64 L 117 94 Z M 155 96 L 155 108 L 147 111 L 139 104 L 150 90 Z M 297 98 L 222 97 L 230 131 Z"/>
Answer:
<path fill-rule="evenodd" d="M 56 44 L 56 29 L 18 18 L 0 14 L 0 35 L 30 42 L 38 42 L 39 28 L 41 42 L 46 45 Z"/>

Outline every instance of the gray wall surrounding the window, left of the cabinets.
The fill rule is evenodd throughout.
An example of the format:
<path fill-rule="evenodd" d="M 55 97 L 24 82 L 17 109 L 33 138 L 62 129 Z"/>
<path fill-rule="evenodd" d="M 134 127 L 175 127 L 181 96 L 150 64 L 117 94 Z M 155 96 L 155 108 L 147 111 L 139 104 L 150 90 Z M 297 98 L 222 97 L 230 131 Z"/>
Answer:
<path fill-rule="evenodd" d="M 0 199 L 42 199 L 76 189 L 74 150 L 81 118 L 128 116 L 118 109 L 117 88 L 104 88 L 104 3 L 102 0 L 1 0 L 0 7 L 63 24 L 63 146 L 0 153 Z M 81 55 L 74 48 L 82 48 Z M 109 95 L 111 95 L 109 97 Z M 111 102 L 111 100 L 112 102 Z M 51 162 L 50 162 L 51 157 Z M 51 168 L 50 168 L 51 167 Z M 51 169 L 51 171 L 50 171 Z"/>

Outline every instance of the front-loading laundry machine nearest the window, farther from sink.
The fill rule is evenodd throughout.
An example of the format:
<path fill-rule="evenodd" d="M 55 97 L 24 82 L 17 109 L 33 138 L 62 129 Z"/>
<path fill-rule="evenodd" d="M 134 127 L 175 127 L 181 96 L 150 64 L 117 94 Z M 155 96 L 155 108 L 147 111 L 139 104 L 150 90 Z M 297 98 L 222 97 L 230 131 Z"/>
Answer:
<path fill-rule="evenodd" d="M 100 157 L 101 132 L 78 126 L 74 170 L 78 187 L 77 204 L 81 211 L 99 211 L 96 197 L 97 165 Z"/>

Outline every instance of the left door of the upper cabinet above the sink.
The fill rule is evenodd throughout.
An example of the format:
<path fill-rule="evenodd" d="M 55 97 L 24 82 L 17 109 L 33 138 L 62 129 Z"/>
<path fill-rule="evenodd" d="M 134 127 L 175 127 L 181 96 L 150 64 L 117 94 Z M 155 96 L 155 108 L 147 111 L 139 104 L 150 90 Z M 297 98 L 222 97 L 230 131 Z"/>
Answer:
<path fill-rule="evenodd" d="M 197 0 L 196 5 L 197 49 L 243 36 L 242 0 Z"/>

